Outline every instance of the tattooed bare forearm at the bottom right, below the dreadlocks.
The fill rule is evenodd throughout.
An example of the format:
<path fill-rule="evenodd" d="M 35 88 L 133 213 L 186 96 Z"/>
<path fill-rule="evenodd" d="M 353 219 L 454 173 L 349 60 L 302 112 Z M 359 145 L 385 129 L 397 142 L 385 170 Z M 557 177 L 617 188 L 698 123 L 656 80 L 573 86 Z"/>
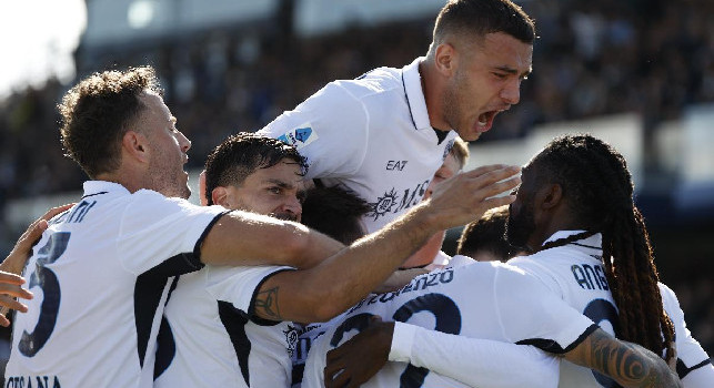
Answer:
<path fill-rule="evenodd" d="M 597 329 L 565 356 L 571 363 L 594 369 L 623 387 L 682 387 L 666 363 L 652 351 Z"/>

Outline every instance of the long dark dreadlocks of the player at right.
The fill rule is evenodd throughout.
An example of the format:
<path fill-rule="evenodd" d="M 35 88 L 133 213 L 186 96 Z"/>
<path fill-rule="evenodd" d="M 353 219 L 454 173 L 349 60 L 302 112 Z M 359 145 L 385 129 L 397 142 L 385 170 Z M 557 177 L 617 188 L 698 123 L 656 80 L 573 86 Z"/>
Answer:
<path fill-rule="evenodd" d="M 662 307 L 658 274 L 644 217 L 633 201 L 625 159 L 589 134 L 554 139 L 530 163 L 536 182 L 556 183 L 576 226 L 586 232 L 556 239 L 541 251 L 602 234 L 603 264 L 620 310 L 617 337 L 662 355 L 674 355 L 674 326 Z"/>

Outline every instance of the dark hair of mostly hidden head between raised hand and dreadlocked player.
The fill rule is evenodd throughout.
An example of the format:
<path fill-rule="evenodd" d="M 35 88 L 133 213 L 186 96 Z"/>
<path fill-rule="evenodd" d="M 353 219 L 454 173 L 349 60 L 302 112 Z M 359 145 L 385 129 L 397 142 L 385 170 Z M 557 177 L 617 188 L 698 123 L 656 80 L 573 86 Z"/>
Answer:
<path fill-rule="evenodd" d="M 499 257 L 501 262 L 506 262 L 513 248 L 506 242 L 505 222 L 509 218 L 509 206 L 492 208 L 484 215 L 471 222 L 461 232 L 456 254 L 474 257 L 477 252 L 489 252 Z"/>

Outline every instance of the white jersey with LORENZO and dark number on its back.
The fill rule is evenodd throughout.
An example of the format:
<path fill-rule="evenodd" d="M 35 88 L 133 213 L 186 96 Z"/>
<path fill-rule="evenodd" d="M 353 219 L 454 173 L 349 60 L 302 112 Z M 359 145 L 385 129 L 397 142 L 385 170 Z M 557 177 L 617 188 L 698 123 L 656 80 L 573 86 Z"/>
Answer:
<path fill-rule="evenodd" d="M 313 343 L 303 387 L 323 386 L 326 353 L 363 328 L 372 315 L 440 334 L 460 335 L 464 339 L 534 345 L 550 353 L 569 351 L 596 328 L 592 320 L 517 268 L 501 263 L 447 267 L 419 276 L 399 292 L 371 295 L 348 312 L 342 324 Z M 447 369 L 449 350 L 442 350 L 434 351 L 446 355 L 441 358 Z M 463 381 L 446 377 L 460 371 L 450 374 L 446 369 L 442 368 L 440 375 L 411 364 L 390 361 L 364 386 L 398 387 L 401 381 L 401 386 L 413 387 L 467 387 Z M 482 379 L 482 385 L 503 386 L 499 377 L 493 378 L 491 381 Z M 556 378 L 554 370 L 553 385 Z"/>

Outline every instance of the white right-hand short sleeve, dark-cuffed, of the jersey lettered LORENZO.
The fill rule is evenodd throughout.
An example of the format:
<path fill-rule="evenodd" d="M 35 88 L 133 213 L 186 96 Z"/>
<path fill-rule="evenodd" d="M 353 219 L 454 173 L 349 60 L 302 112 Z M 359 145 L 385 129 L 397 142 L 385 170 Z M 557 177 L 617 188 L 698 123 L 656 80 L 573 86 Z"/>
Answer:
<path fill-rule="evenodd" d="M 597 328 L 539 280 L 517 268 L 499 266 L 494 287 L 499 324 L 512 343 L 564 354 Z"/>

